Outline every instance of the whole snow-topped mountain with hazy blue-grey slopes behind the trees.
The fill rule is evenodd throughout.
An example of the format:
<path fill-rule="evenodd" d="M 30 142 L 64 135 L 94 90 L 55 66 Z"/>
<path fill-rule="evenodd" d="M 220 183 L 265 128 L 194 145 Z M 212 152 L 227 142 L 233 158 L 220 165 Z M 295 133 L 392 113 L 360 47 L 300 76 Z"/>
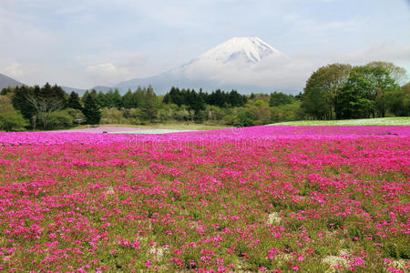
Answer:
<path fill-rule="evenodd" d="M 217 45 L 189 63 L 170 69 L 156 76 L 134 78 L 119 83 L 121 91 L 135 90 L 138 86 L 151 85 L 159 95 L 170 87 L 236 89 L 242 94 L 272 92 L 277 86 L 264 85 L 263 73 L 272 66 L 281 66 L 289 57 L 258 37 L 234 37 Z M 259 75 L 259 78 L 258 78 Z"/>

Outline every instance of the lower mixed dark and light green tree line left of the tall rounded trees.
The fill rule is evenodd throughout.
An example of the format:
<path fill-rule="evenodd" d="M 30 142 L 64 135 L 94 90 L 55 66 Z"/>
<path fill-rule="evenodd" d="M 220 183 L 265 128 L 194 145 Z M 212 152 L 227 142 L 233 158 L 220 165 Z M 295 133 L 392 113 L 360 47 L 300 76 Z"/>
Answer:
<path fill-rule="evenodd" d="M 0 92 L 7 111 L 0 113 L 0 129 L 57 129 L 81 124 L 207 123 L 244 126 L 301 119 L 300 99 L 274 92 L 245 96 L 236 90 L 211 93 L 172 87 L 157 96 L 151 86 L 121 96 L 86 91 L 69 95 L 60 86 L 17 86 Z"/>

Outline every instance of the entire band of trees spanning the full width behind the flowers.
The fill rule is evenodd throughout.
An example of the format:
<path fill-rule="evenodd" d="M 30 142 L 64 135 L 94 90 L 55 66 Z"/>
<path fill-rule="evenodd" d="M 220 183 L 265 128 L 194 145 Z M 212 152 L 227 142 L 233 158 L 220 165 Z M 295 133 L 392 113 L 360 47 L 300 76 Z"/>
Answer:
<path fill-rule="evenodd" d="M 392 63 L 332 64 L 313 72 L 299 95 L 241 95 L 172 87 L 157 96 L 151 86 L 107 93 L 67 94 L 60 86 L 7 87 L 0 92 L 0 129 L 49 130 L 82 124 L 202 123 L 256 126 L 302 119 L 409 116 L 407 72 Z"/>

